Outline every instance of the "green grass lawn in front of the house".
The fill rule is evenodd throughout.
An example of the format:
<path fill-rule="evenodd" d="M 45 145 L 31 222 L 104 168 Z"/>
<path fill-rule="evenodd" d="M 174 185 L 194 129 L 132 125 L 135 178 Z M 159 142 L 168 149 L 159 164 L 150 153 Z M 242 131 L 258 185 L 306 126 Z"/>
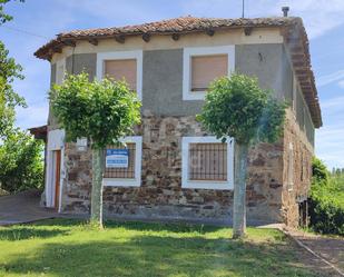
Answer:
<path fill-rule="evenodd" d="M 51 219 L 0 227 L 0 276 L 316 276 L 271 229 Z"/>

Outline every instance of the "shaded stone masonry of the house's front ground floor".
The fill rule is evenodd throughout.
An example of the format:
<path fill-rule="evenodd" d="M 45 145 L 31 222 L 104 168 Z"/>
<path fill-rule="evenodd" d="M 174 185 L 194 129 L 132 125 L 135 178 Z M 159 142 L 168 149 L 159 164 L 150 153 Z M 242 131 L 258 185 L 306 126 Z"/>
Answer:
<path fill-rule="evenodd" d="M 135 131 L 142 136 L 140 187 L 105 187 L 106 216 L 185 218 L 230 221 L 233 191 L 181 188 L 181 137 L 205 136 L 195 117 L 145 116 Z M 65 149 L 62 211 L 90 211 L 91 154 Z M 283 221 L 283 145 L 250 149 L 247 186 L 248 221 Z"/>

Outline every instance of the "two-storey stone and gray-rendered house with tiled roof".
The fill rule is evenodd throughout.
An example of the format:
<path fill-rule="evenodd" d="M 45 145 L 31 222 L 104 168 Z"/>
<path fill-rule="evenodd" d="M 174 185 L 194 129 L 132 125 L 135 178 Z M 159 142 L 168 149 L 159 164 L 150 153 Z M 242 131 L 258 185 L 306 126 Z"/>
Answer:
<path fill-rule="evenodd" d="M 109 146 L 105 157 L 106 216 L 230 222 L 235 142 L 220 144 L 195 116 L 209 81 L 237 71 L 256 76 L 291 103 L 281 141 L 249 151 L 248 222 L 304 220 L 314 128 L 322 117 L 302 19 L 183 17 L 77 30 L 35 55 L 50 62 L 51 83 L 60 83 L 65 71 L 125 78 L 142 102 L 142 123 L 124 138 L 127 148 Z M 89 214 L 88 141 L 65 141 L 51 112 L 46 158 L 46 206 Z"/>

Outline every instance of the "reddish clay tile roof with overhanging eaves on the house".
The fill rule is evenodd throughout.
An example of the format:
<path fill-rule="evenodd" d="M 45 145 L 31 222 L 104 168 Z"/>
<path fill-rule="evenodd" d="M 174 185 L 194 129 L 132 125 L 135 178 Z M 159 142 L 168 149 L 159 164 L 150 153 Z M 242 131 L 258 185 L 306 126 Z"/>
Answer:
<path fill-rule="evenodd" d="M 321 127 L 322 115 L 311 67 L 308 39 L 301 18 L 218 19 L 180 17 L 137 26 L 75 30 L 59 33 L 56 39 L 39 48 L 35 52 L 35 56 L 40 59 L 50 60 L 53 52 L 61 51 L 61 48 L 65 46 L 73 46 L 78 40 L 95 42 L 100 39 L 119 38 L 118 40 L 122 41 L 122 38 L 127 36 L 142 36 L 144 38 L 144 36 L 154 34 L 186 34 L 190 32 L 213 32 L 220 29 L 264 27 L 277 27 L 282 29 L 282 34 L 289 49 L 292 63 L 307 101 L 314 126 L 316 128 Z"/>

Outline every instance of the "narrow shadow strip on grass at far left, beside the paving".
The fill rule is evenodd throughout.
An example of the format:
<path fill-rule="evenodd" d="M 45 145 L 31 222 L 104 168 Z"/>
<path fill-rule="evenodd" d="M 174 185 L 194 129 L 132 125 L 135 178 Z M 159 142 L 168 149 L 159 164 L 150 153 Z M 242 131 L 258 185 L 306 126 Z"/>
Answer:
<path fill-rule="evenodd" d="M 29 238 L 50 238 L 66 235 L 67 230 L 60 229 L 36 229 L 32 227 L 12 227 L 0 229 L 0 240 L 22 240 Z"/>

